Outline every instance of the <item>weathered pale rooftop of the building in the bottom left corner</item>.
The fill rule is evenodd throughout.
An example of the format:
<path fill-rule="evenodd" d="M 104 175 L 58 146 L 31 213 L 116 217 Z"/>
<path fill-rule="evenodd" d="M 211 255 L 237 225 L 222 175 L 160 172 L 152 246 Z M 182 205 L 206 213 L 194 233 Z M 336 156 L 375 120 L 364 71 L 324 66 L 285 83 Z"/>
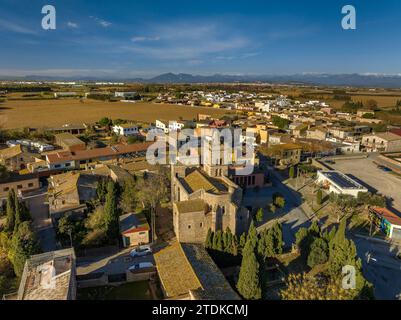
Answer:
<path fill-rule="evenodd" d="M 26 260 L 18 300 L 75 299 L 75 253 L 64 249 Z"/>

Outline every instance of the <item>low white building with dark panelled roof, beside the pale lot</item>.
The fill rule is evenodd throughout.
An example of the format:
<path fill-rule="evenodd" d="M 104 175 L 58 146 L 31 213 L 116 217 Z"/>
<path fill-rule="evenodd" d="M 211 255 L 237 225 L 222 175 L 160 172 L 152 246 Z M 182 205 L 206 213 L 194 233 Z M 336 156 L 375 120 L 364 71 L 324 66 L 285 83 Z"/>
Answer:
<path fill-rule="evenodd" d="M 357 197 L 359 192 L 368 192 L 368 189 L 340 171 L 318 171 L 316 183 L 330 193 L 348 194 Z"/>

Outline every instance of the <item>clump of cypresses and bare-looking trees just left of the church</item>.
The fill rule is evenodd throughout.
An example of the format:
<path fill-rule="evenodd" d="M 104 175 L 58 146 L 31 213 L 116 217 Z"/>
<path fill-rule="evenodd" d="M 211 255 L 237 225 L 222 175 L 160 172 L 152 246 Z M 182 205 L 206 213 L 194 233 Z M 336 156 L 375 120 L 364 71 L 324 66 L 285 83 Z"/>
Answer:
<path fill-rule="evenodd" d="M 121 184 L 104 178 L 98 182 L 97 199 L 88 203 L 88 217 L 85 220 L 61 218 L 58 236 L 74 246 L 114 244 L 119 237 L 119 216 L 140 207 L 150 212 L 153 221 L 156 206 L 167 197 L 167 185 L 167 176 L 161 168 L 156 174 L 127 178 Z"/>

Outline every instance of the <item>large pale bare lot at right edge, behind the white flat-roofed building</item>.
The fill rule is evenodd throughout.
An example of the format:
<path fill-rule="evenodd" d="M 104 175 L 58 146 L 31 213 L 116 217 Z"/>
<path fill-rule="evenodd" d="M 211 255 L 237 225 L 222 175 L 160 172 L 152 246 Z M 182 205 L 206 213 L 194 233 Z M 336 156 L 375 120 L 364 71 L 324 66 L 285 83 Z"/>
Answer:
<path fill-rule="evenodd" d="M 401 178 L 378 169 L 374 164 L 377 156 L 378 154 L 369 154 L 368 158 L 362 159 L 336 159 L 335 164 L 330 164 L 330 167 L 358 178 L 371 191 L 392 198 L 392 206 L 401 211 Z"/>

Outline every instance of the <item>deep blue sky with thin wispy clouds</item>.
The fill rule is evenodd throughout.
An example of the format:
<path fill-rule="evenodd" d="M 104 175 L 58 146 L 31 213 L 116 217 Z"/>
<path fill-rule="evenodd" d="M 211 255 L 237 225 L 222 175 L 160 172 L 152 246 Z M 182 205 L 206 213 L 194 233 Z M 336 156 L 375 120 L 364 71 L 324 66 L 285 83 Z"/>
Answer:
<path fill-rule="evenodd" d="M 400 35 L 399 0 L 0 0 L 0 75 L 401 74 Z"/>

